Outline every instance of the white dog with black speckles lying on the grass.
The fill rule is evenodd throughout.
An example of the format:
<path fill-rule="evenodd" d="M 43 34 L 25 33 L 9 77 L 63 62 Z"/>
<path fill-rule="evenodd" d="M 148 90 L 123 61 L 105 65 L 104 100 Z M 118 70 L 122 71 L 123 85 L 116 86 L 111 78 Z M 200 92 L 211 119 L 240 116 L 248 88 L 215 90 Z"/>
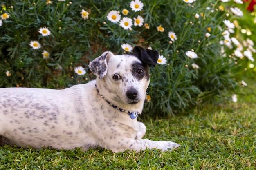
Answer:
<path fill-rule="evenodd" d="M 97 78 L 55 90 L 0 88 L 0 144 L 57 150 L 105 148 L 112 152 L 173 150 L 171 141 L 142 139 L 141 114 L 150 66 L 159 53 L 135 46 L 132 53 L 107 51 L 89 63 Z"/>

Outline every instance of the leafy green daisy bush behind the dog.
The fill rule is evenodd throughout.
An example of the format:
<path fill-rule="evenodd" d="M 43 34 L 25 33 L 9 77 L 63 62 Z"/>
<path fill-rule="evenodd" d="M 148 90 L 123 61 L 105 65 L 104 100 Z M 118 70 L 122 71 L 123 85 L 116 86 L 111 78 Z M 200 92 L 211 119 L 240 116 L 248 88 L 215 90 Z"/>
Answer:
<path fill-rule="evenodd" d="M 0 26 L 0 87 L 67 88 L 86 83 L 95 78 L 88 68 L 91 60 L 104 51 L 127 53 L 121 48 L 127 43 L 158 50 L 164 57 L 151 69 L 145 113 L 171 115 L 232 94 L 238 86 L 239 63 L 247 58 L 234 55 L 234 42 L 220 45 L 226 30 L 223 20 L 231 17 L 231 11 L 222 11 L 219 0 L 142 2 L 142 10 L 136 12 L 125 0 L 1 2 L 0 14 L 9 18 L 2 19 Z M 129 13 L 124 15 L 123 9 Z M 112 10 L 119 11 L 120 20 L 128 17 L 134 22 L 139 15 L 144 23 L 124 29 L 107 18 Z M 50 35 L 39 33 L 45 27 Z M 29 45 L 34 40 L 41 48 Z M 188 57 L 187 51 L 198 57 Z M 76 66 L 83 66 L 87 73 L 76 74 Z"/>

